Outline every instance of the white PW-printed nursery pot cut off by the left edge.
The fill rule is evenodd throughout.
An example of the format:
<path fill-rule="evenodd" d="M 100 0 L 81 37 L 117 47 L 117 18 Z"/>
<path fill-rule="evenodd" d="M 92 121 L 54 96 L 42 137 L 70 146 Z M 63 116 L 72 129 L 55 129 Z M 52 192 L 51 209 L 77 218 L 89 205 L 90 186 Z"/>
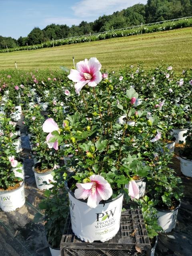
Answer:
<path fill-rule="evenodd" d="M 4 212 L 11 212 L 20 208 L 25 203 L 25 193 L 24 193 L 24 182 L 21 182 L 19 188 L 9 190 L 9 191 L 0 191 L 0 208 Z"/>

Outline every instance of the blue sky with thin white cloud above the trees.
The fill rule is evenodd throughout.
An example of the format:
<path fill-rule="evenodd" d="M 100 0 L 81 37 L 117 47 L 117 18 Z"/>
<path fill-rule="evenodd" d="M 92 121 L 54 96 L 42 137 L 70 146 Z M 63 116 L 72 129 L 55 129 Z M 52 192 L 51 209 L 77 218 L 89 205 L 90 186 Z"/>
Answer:
<path fill-rule="evenodd" d="M 18 39 L 34 27 L 78 25 L 147 0 L 0 0 L 0 36 Z"/>

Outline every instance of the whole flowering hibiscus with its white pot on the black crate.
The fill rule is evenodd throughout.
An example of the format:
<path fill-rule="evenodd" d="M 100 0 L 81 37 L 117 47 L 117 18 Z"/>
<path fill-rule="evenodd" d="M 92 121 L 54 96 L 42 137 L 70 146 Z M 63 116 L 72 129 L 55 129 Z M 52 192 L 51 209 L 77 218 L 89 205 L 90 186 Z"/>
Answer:
<path fill-rule="evenodd" d="M 138 98 L 134 88 L 115 98 L 112 82 L 102 81 L 101 64 L 96 58 L 79 62 L 76 67 L 68 78 L 76 83 L 76 93 L 82 97 L 79 108 L 75 114 L 67 115 L 62 128 L 49 118 L 43 130 L 50 133 L 47 143 L 56 149 L 60 144 L 71 145 L 61 154 L 72 156 L 66 167 L 73 169 L 74 175 L 66 180 L 66 189 L 74 234 L 84 241 L 104 242 L 119 230 L 123 197 L 126 201 L 139 198 L 138 186 L 127 165 L 128 154 L 150 138 L 154 120 L 149 124 L 146 115 L 138 112 L 137 118 L 142 121 L 139 128 L 144 126 L 147 132 L 136 136 L 135 130 L 129 130 L 136 126 L 127 125 Z M 117 124 L 118 116 L 125 113 L 125 124 Z"/>

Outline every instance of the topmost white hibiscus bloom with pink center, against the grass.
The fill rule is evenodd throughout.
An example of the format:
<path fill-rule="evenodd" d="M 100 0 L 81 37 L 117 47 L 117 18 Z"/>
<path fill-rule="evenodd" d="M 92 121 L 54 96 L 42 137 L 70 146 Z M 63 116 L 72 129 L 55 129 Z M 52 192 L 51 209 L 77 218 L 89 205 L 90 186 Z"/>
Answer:
<path fill-rule="evenodd" d="M 102 80 L 100 72 L 101 64 L 97 58 L 82 60 L 76 64 L 76 70 L 71 69 L 68 78 L 75 82 L 75 91 L 80 93 L 83 86 L 88 84 L 90 87 L 95 87 Z"/>

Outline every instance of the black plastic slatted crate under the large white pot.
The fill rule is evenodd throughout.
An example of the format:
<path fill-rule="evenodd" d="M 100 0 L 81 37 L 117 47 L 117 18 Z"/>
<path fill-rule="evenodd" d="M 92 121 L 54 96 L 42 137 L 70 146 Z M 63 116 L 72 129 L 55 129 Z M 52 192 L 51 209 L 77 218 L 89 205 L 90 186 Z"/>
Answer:
<path fill-rule="evenodd" d="M 138 252 L 138 248 L 141 252 Z M 81 241 L 72 232 L 68 214 L 60 250 L 61 256 L 150 256 L 151 245 L 141 210 L 129 209 L 122 212 L 120 229 L 116 236 L 106 242 Z"/>

